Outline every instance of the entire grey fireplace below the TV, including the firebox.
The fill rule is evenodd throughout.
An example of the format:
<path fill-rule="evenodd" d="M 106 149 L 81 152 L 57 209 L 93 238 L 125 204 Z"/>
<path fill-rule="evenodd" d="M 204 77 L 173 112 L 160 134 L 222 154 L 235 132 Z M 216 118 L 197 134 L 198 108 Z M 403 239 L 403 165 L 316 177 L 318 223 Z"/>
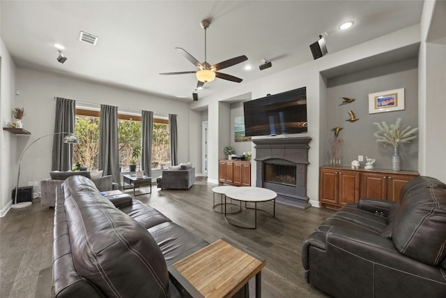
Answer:
<path fill-rule="evenodd" d="M 307 165 L 311 137 L 252 140 L 256 144 L 256 186 L 277 193 L 277 202 L 306 209 Z"/>

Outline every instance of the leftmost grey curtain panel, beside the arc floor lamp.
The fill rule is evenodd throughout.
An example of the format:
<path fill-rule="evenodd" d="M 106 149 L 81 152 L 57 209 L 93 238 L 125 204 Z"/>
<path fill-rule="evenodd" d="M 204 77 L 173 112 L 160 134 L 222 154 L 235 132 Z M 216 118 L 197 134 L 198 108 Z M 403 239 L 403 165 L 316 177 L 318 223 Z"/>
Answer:
<path fill-rule="evenodd" d="M 69 171 L 72 165 L 72 144 L 65 144 L 67 133 L 75 133 L 76 101 L 56 97 L 51 170 Z"/>

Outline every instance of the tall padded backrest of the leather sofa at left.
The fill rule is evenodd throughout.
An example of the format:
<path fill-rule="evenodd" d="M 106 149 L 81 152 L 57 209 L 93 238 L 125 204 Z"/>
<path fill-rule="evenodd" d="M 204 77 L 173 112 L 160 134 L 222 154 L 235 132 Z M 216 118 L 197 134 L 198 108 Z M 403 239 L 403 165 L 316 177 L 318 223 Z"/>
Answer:
<path fill-rule="evenodd" d="M 169 297 L 167 265 L 151 234 L 93 187 L 79 176 L 63 183 L 76 271 L 107 297 Z"/>

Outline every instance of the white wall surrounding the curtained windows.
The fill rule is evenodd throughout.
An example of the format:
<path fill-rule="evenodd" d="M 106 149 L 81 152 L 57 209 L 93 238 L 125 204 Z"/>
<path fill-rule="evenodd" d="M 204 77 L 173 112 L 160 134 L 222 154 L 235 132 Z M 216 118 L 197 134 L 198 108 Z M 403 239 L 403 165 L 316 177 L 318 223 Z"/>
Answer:
<path fill-rule="evenodd" d="M 21 92 L 21 95 L 17 96 L 17 104 L 20 103 L 26 111 L 23 119 L 24 128 L 31 131 L 30 137 L 22 138 L 22 141 L 18 142 L 18 152 L 22 152 L 26 144 L 36 138 L 54 131 L 56 105 L 54 96 L 58 96 L 90 103 L 177 114 L 178 163 L 187 162 L 190 159 L 188 103 L 24 68 L 17 68 L 16 89 Z M 26 186 L 28 181 L 49 178 L 51 156 L 52 137 L 45 137 L 33 144 L 33 147 L 26 151 L 22 161 L 20 185 Z"/>

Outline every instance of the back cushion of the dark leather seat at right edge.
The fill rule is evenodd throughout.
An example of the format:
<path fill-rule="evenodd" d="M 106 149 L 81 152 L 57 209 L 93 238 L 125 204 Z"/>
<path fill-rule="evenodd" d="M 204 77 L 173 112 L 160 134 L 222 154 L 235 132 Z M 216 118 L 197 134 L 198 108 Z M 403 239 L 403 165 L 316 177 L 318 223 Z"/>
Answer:
<path fill-rule="evenodd" d="M 446 255 L 446 185 L 430 177 L 407 184 L 394 217 L 392 241 L 403 255 L 438 265 Z"/>

